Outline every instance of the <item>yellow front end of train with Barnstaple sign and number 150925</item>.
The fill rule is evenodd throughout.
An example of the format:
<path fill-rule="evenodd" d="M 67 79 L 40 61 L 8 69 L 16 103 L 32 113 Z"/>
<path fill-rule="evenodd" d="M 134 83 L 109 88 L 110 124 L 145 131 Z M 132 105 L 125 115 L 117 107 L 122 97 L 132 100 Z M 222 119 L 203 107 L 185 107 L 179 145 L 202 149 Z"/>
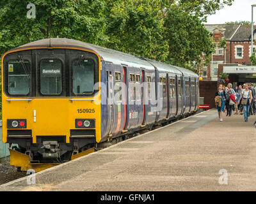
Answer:
<path fill-rule="evenodd" d="M 3 142 L 10 163 L 44 170 L 100 142 L 100 57 L 65 40 L 40 40 L 2 57 Z M 52 44 L 54 43 L 54 46 Z"/>

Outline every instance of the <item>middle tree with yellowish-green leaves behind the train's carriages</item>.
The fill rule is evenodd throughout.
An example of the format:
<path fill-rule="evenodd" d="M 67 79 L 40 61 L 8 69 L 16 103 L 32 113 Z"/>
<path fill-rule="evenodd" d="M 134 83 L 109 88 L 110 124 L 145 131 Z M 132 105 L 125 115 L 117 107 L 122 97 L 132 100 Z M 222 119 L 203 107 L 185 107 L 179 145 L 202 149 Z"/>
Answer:
<path fill-rule="evenodd" d="M 107 47 L 150 59 L 165 61 L 168 42 L 158 1 L 109 1 Z"/>

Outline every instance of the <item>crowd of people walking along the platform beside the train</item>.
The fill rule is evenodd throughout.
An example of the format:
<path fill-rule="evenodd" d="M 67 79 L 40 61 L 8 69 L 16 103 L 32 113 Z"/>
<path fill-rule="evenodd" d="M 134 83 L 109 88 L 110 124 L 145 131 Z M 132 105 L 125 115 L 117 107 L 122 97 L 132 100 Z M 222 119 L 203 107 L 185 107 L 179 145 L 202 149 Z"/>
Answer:
<path fill-rule="evenodd" d="M 230 117 L 232 111 L 235 115 L 244 115 L 244 122 L 248 122 L 250 115 L 256 115 L 256 91 L 253 85 L 243 84 L 238 87 L 232 87 L 229 83 L 227 87 L 219 84 L 218 91 L 215 94 L 215 104 L 218 109 L 219 120 L 223 121 L 223 114 Z"/>

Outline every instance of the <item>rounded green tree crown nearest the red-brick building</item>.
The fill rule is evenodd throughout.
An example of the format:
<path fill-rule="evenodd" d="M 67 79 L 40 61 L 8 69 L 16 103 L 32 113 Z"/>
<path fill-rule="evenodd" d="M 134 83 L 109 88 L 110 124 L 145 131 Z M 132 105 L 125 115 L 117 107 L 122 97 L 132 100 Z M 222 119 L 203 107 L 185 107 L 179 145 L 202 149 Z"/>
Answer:
<path fill-rule="evenodd" d="M 196 67 L 202 62 L 202 53 L 207 59 L 214 51 L 211 34 L 205 29 L 202 20 L 196 15 L 189 15 L 178 6 L 173 6 L 166 13 L 164 27 L 164 38 L 169 45 L 167 61 L 177 66 L 190 66 L 197 72 Z"/>

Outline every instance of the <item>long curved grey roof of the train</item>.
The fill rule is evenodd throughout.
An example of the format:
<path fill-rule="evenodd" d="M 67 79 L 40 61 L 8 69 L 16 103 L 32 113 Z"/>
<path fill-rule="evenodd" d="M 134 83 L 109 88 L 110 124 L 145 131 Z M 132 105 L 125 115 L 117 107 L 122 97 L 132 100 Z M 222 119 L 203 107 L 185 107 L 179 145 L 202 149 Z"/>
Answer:
<path fill-rule="evenodd" d="M 46 38 L 43 40 L 33 41 L 27 43 L 20 47 L 14 48 L 13 50 L 19 50 L 20 48 L 36 48 L 36 47 L 67 47 L 67 48 L 84 48 L 91 50 L 100 55 L 105 61 L 115 62 L 118 64 L 125 64 L 127 66 L 135 66 L 139 68 L 154 69 L 154 66 L 159 69 L 159 71 L 168 71 L 175 74 L 189 75 L 198 77 L 192 71 L 188 69 L 179 68 L 170 64 L 165 64 L 163 62 L 154 61 L 152 59 L 145 59 L 143 57 L 127 54 L 117 50 L 112 50 L 105 47 L 100 47 L 98 45 L 93 45 L 90 43 L 85 43 L 83 41 L 72 40 L 68 38 Z M 153 66 L 153 65 L 154 66 Z"/>

